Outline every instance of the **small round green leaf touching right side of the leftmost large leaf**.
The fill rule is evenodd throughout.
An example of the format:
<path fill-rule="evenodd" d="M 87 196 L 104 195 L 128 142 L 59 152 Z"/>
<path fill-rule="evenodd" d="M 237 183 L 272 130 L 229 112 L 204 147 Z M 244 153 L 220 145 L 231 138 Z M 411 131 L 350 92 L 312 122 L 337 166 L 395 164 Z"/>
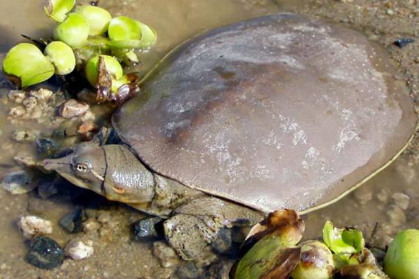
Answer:
<path fill-rule="evenodd" d="M 56 75 L 68 75 L 75 68 L 75 56 L 71 47 L 55 41 L 45 47 L 44 54 L 55 68 Z"/>

